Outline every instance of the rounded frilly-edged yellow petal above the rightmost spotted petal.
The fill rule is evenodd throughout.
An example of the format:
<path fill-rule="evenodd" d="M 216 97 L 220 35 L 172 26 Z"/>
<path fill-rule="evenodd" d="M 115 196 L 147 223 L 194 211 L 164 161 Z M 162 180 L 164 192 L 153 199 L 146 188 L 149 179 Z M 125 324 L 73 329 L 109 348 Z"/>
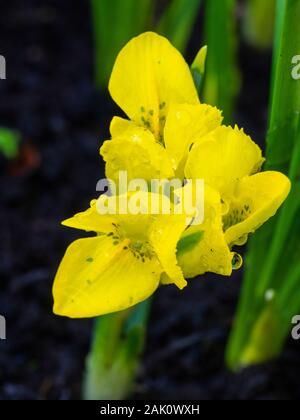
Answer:
<path fill-rule="evenodd" d="M 205 179 L 224 195 L 231 194 L 236 181 L 261 168 L 260 148 L 237 127 L 219 127 L 196 143 L 187 160 L 187 178 Z"/>

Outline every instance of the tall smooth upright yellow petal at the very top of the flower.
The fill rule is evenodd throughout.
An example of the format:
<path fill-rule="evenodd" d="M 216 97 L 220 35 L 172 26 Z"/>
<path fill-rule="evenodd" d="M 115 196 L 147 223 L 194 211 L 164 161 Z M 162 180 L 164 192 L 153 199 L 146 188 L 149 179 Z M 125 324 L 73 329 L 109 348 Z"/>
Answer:
<path fill-rule="evenodd" d="M 152 32 L 132 39 L 120 52 L 109 90 L 131 120 L 160 140 L 172 103 L 199 103 L 187 63 L 166 38 Z"/>

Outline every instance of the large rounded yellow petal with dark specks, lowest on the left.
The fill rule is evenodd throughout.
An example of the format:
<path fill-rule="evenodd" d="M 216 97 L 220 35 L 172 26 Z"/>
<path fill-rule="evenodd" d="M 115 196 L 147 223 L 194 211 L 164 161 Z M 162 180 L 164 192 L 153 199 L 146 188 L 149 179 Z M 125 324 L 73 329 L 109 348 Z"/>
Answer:
<path fill-rule="evenodd" d="M 161 267 L 155 257 L 134 257 L 125 240 L 81 239 L 68 248 L 55 278 L 54 313 L 89 318 L 122 311 L 157 289 Z"/>

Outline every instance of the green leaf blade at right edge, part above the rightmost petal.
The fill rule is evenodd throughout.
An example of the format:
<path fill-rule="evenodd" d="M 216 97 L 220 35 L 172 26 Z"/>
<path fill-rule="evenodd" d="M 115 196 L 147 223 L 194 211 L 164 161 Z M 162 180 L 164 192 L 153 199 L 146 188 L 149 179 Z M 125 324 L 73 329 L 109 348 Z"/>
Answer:
<path fill-rule="evenodd" d="M 298 0 L 278 3 L 279 34 L 275 38 L 272 112 L 267 136 L 267 168 L 288 172 L 298 129 L 300 82 L 292 77 L 293 57 L 299 54 L 300 5 Z M 283 9 L 283 10 L 282 10 Z"/>

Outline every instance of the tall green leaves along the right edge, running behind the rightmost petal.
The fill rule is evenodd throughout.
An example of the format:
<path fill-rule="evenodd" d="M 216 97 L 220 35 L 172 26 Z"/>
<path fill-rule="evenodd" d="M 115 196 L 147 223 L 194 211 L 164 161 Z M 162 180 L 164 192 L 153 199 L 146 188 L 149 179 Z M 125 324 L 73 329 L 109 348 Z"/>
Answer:
<path fill-rule="evenodd" d="M 300 80 L 292 77 L 299 22 L 300 2 L 279 0 L 266 167 L 289 175 L 292 191 L 278 216 L 251 240 L 227 349 L 231 369 L 277 357 L 300 311 Z"/>

